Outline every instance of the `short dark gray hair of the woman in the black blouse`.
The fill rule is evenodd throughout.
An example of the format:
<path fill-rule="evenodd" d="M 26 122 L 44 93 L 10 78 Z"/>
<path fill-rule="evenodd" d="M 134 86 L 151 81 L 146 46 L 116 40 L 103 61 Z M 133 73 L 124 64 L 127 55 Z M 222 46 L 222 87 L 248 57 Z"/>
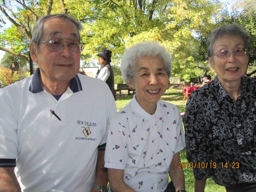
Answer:
<path fill-rule="evenodd" d="M 244 46 L 247 49 L 247 53 L 250 49 L 250 36 L 248 32 L 240 25 L 223 25 L 221 27 L 216 28 L 211 34 L 209 35 L 206 45 L 207 45 L 207 56 L 212 57 L 213 53 L 213 45 L 214 42 L 222 38 L 223 36 L 239 36 L 244 41 Z"/>

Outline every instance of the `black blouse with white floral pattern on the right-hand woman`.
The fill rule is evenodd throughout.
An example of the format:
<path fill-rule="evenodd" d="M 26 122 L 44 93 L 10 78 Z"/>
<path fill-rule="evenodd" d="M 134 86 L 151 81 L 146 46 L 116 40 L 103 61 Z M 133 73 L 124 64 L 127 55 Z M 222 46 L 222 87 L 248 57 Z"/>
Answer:
<path fill-rule="evenodd" d="M 241 82 L 236 102 L 217 76 L 191 93 L 183 122 L 195 179 L 213 177 L 225 187 L 256 182 L 256 79 Z"/>

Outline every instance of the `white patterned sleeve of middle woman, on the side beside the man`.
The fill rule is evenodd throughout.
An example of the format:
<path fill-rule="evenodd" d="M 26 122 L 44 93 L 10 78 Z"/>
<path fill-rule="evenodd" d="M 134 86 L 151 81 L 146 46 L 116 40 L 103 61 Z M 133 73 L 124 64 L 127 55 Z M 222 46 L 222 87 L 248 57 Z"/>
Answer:
<path fill-rule="evenodd" d="M 108 141 L 106 144 L 104 167 L 125 169 L 128 162 L 128 131 L 123 128 L 123 123 L 120 120 L 119 114 L 111 119 L 109 125 Z"/>

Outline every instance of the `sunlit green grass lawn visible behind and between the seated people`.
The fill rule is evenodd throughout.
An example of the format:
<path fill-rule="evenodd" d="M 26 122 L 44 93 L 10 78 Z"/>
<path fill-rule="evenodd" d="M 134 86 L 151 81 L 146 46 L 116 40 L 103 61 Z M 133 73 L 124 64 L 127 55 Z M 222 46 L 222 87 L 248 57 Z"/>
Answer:
<path fill-rule="evenodd" d="M 186 108 L 186 101 L 183 103 L 183 94 L 182 90 L 179 89 L 168 89 L 166 90 L 165 95 L 161 97 L 161 100 L 172 103 L 176 105 L 180 112 L 185 112 Z M 117 111 L 122 109 L 125 105 L 129 103 L 129 101 L 133 98 L 133 95 L 128 96 L 117 96 L 116 97 L 116 108 Z M 180 152 L 181 155 L 181 162 L 187 162 L 186 159 L 186 150 L 183 149 Z M 186 191 L 187 192 L 194 192 L 194 175 L 193 175 L 193 169 L 183 169 L 185 174 L 185 182 L 186 182 Z M 218 186 L 215 184 L 212 178 L 207 179 L 206 186 L 205 186 L 205 192 L 225 192 L 225 188 L 222 186 Z"/>

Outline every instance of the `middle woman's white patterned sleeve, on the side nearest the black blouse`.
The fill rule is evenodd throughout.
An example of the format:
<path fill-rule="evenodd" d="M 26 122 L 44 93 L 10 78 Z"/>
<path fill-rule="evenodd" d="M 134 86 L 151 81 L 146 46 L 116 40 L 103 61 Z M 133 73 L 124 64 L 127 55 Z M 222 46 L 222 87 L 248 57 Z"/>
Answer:
<path fill-rule="evenodd" d="M 176 121 L 177 122 L 176 124 L 177 142 L 176 142 L 174 153 L 177 153 L 186 147 L 186 142 L 185 142 L 185 135 L 184 135 L 183 126 L 181 122 L 181 113 L 176 106 L 174 107 L 174 111 L 177 119 Z"/>

